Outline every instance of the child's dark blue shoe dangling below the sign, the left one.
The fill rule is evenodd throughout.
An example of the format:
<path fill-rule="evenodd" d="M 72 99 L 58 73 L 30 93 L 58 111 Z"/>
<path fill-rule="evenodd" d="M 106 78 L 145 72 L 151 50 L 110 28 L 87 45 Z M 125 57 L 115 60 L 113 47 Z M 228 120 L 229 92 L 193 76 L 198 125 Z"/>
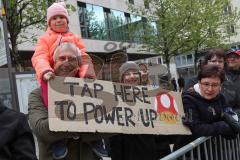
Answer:
<path fill-rule="evenodd" d="M 62 159 L 67 156 L 68 149 L 66 144 L 63 141 L 59 141 L 53 144 L 52 152 L 53 152 L 54 159 Z"/>

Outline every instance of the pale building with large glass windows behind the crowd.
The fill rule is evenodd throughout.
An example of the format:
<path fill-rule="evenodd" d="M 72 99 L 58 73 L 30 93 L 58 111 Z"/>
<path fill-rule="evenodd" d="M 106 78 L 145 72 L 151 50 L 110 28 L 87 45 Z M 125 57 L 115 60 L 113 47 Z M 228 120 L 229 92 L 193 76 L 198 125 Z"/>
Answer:
<path fill-rule="evenodd" d="M 128 60 L 165 65 L 162 57 L 142 50 L 136 43 L 137 39 L 130 40 L 129 38 L 128 26 L 141 23 L 143 19 L 131 14 L 128 10 L 128 3 L 144 6 L 143 0 L 68 0 L 66 3 L 76 8 L 76 12 L 70 12 L 69 27 L 73 33 L 82 37 L 87 53 L 105 58 L 107 54 L 126 47 Z M 39 36 L 44 33 L 37 30 L 32 32 L 39 33 Z M 136 34 L 140 32 L 136 31 Z M 30 58 L 34 44 L 23 43 L 19 45 L 19 49 L 22 55 L 27 55 L 25 59 L 28 59 L 27 65 L 31 69 Z M 170 70 L 176 76 L 174 60 L 171 61 Z M 152 76 L 152 80 L 159 82 L 160 74 L 162 73 L 156 73 L 156 78 Z"/>

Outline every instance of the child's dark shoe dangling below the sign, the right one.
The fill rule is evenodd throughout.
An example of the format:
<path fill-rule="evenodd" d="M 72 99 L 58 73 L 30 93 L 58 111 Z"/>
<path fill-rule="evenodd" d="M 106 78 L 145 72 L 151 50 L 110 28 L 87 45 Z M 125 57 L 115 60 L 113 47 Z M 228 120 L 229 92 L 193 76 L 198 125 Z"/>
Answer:
<path fill-rule="evenodd" d="M 98 157 L 108 157 L 108 152 L 104 145 L 104 140 L 92 141 L 90 142 L 90 146 Z"/>

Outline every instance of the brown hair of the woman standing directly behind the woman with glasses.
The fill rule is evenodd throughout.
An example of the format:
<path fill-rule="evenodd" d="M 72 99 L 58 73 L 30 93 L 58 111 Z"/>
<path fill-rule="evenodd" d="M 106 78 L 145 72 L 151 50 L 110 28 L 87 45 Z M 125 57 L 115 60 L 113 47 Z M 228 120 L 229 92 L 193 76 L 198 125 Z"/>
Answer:
<path fill-rule="evenodd" d="M 217 58 L 223 58 L 225 60 L 225 51 L 223 48 L 211 48 L 207 51 L 206 55 L 203 58 L 203 61 L 201 62 L 201 68 L 204 65 L 208 64 L 208 61 L 211 60 L 213 57 Z"/>

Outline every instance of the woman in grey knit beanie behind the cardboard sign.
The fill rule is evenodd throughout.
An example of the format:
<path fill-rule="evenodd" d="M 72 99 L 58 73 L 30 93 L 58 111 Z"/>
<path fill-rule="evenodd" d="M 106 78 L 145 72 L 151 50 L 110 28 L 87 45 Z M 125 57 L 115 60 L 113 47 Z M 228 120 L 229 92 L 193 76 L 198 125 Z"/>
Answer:
<path fill-rule="evenodd" d="M 128 61 L 119 68 L 119 81 L 124 84 L 141 85 L 139 66 Z M 157 160 L 154 135 L 120 134 L 109 139 L 112 160 Z"/>

